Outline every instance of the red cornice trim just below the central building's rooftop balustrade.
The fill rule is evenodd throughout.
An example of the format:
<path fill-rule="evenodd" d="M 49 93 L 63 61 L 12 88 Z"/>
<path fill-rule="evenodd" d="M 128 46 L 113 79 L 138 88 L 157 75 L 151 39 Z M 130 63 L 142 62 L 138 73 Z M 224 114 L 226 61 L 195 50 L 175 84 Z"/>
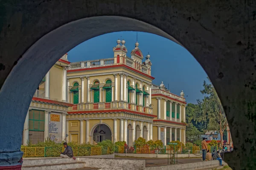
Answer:
<path fill-rule="evenodd" d="M 152 77 L 152 76 L 150 76 L 150 75 L 147 75 L 147 74 L 145 74 L 145 73 L 143 73 L 143 72 L 140 72 L 140 71 L 138 71 L 137 69 L 134 69 L 134 68 L 132 68 L 132 67 L 129 67 L 129 66 L 125 65 L 125 64 L 119 64 L 119 65 L 113 65 L 113 66 L 92 67 L 92 68 L 85 68 L 85 69 L 72 69 L 72 70 L 67 70 L 67 72 L 81 72 L 81 71 L 87 71 L 87 70 L 108 69 L 108 68 L 116 68 L 116 67 L 125 67 L 125 68 L 127 68 L 127 69 L 131 69 L 131 70 L 133 70 L 133 71 L 135 71 L 135 72 L 137 72 L 137 73 L 140 73 L 140 74 L 142 74 L 142 75 L 145 75 L 146 77 L 148 77 L 148 78 L 154 80 L 154 77 Z"/>

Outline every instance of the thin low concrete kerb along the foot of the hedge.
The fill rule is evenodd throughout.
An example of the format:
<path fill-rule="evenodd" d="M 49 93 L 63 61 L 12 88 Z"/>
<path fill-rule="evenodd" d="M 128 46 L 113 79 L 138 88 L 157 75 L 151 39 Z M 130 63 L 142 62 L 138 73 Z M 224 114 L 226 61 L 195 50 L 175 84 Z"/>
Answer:
<path fill-rule="evenodd" d="M 125 153 L 115 153 L 115 156 L 124 156 Z M 157 158 L 157 154 L 140 154 L 140 153 L 127 153 L 128 157 L 137 157 L 137 158 Z M 178 158 L 189 158 L 189 154 L 178 154 Z M 190 154 L 191 158 L 202 157 L 202 155 Z M 167 154 L 158 154 L 158 158 L 168 158 Z"/>

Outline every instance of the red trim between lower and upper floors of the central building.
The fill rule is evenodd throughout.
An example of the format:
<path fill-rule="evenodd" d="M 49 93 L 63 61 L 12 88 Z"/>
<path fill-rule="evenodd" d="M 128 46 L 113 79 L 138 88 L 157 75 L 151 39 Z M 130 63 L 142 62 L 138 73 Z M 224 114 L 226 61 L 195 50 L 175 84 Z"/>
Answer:
<path fill-rule="evenodd" d="M 67 112 L 68 114 L 75 114 L 75 113 L 106 113 L 106 112 L 129 112 L 129 113 L 134 113 L 134 114 L 137 114 L 137 115 L 145 115 L 145 116 L 149 116 L 149 117 L 152 117 L 152 118 L 156 118 L 157 115 L 150 115 L 150 114 L 147 114 L 147 113 L 142 113 L 142 112 L 135 112 L 135 111 L 131 111 L 131 110 L 127 110 L 127 109 L 117 109 L 117 110 L 90 110 L 90 111 L 73 111 L 73 112 Z"/>

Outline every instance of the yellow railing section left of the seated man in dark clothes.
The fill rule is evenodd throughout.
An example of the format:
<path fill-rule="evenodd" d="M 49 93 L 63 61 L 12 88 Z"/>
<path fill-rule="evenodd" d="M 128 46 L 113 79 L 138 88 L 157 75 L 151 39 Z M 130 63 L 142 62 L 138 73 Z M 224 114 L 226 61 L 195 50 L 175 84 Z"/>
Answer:
<path fill-rule="evenodd" d="M 44 157 L 45 147 L 21 147 L 23 157 Z"/>

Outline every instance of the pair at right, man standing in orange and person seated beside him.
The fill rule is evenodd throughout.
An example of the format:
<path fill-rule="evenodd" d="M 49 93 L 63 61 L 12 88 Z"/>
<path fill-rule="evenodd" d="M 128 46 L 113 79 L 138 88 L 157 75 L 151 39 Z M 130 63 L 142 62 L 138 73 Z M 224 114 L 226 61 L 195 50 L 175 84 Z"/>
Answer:
<path fill-rule="evenodd" d="M 202 157 L 203 157 L 203 161 L 212 160 L 212 154 L 208 150 L 206 138 L 203 138 L 203 141 L 202 141 Z M 223 166 L 222 158 L 219 151 L 217 151 L 217 153 L 215 154 L 215 159 L 220 161 L 220 165 Z"/>

